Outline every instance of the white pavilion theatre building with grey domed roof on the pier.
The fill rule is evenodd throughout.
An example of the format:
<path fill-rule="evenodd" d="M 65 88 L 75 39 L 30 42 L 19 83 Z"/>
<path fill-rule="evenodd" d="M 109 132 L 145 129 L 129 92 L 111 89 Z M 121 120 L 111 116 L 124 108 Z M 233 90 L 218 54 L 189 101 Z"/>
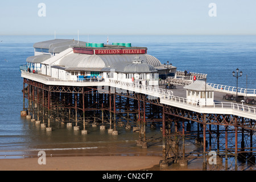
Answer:
<path fill-rule="evenodd" d="M 34 44 L 35 55 L 21 69 L 57 80 L 92 81 L 109 78 L 155 85 L 159 78 L 175 77 L 176 67 L 164 66 L 146 47 L 130 43 L 86 43 L 55 39 Z"/>

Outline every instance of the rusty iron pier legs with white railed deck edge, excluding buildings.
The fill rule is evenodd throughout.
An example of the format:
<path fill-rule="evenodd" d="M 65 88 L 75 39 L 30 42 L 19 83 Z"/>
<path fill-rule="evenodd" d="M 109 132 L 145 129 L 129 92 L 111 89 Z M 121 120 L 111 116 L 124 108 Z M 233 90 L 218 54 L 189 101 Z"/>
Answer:
<path fill-rule="evenodd" d="M 118 80 L 63 81 L 26 71 L 22 77 L 29 102 L 26 107 L 24 101 L 23 110 L 48 131 L 59 121 L 82 134 L 88 134 L 86 127 L 100 126 L 118 135 L 116 126 L 123 125 L 139 132 L 137 145 L 147 148 L 146 125 L 161 125 L 162 167 L 203 158 L 206 169 L 210 151 L 216 151 L 218 167 L 222 159 L 226 169 L 230 163 L 237 169 L 237 160 L 255 164 L 256 107 L 223 100 L 223 92 L 214 91 L 213 106 L 199 106 L 187 101 L 184 85 L 166 89 Z M 187 154 L 185 140 L 201 144 L 203 152 Z"/>

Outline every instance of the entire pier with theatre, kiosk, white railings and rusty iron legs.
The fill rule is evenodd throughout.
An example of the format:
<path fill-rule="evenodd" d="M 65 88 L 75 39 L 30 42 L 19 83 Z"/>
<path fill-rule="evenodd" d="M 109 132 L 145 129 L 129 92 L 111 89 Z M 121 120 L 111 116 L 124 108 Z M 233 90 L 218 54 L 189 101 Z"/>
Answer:
<path fill-rule="evenodd" d="M 21 115 L 48 132 L 55 122 L 82 135 L 90 135 L 88 127 L 111 135 L 125 127 L 138 134 L 138 147 L 148 148 L 150 126 L 162 135 L 160 167 L 201 159 L 204 170 L 237 170 L 238 161 L 255 168 L 255 90 L 209 84 L 202 73 L 183 75 L 129 43 L 78 47 L 75 40 L 49 40 L 34 48 L 20 67 Z M 188 142 L 201 149 L 188 149 Z"/>

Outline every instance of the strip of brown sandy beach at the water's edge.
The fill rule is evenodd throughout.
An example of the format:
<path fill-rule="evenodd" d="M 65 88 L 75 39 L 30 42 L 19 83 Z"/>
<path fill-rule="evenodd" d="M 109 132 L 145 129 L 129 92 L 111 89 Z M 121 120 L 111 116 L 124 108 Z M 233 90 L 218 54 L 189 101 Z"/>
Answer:
<path fill-rule="evenodd" d="M 160 156 L 68 156 L 0 159 L 1 171 L 134 171 L 159 165 Z"/>

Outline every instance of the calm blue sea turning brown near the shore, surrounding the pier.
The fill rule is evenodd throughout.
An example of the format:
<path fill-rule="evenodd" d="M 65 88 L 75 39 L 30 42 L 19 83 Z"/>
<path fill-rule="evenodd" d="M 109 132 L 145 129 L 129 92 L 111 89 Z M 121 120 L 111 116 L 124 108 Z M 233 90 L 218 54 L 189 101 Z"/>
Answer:
<path fill-rule="evenodd" d="M 76 36 L 57 38 L 76 39 Z M 0 36 L 0 158 L 36 155 L 39 150 L 54 155 L 160 155 L 160 143 L 144 150 L 135 146 L 138 134 L 123 128 L 119 128 L 118 136 L 100 132 L 98 128 L 88 129 L 86 136 L 64 127 L 46 133 L 20 118 L 23 79 L 19 65 L 34 55 L 34 43 L 51 39 L 53 36 Z M 107 36 L 80 36 L 85 42 L 106 43 L 106 39 Z M 232 72 L 239 68 L 243 72 L 239 86 L 256 89 L 256 36 L 109 36 L 109 42 L 147 47 L 148 54 L 162 63 L 170 61 L 180 71 L 207 73 L 210 83 L 236 86 Z M 157 138 L 159 130 L 148 129 L 147 136 Z"/>

